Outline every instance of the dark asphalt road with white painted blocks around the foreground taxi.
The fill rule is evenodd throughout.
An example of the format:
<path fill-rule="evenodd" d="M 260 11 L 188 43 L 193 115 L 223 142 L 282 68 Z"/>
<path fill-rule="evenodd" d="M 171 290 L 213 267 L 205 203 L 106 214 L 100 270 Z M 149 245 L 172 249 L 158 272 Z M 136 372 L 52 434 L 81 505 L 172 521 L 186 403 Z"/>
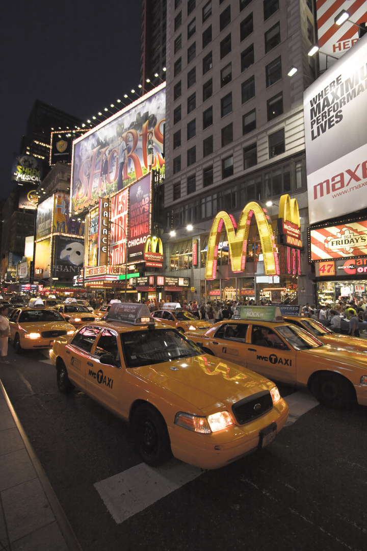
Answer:
<path fill-rule="evenodd" d="M 0 378 L 84 551 L 367 548 L 367 408 L 316 405 L 216 471 L 151 469 L 127 424 L 82 392 L 58 392 L 45 355 L 9 356 Z"/>

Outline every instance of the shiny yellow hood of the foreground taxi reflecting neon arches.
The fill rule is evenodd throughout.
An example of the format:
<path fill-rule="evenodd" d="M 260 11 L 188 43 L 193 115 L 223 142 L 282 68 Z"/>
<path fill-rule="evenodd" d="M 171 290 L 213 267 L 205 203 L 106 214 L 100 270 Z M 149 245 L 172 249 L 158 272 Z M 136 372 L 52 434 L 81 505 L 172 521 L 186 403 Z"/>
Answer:
<path fill-rule="evenodd" d="M 262 375 L 207 355 L 142 366 L 132 371 L 139 378 L 165 388 L 204 413 L 205 408 L 213 404 L 222 403 L 231 407 L 234 402 L 270 390 L 273 386 Z"/>

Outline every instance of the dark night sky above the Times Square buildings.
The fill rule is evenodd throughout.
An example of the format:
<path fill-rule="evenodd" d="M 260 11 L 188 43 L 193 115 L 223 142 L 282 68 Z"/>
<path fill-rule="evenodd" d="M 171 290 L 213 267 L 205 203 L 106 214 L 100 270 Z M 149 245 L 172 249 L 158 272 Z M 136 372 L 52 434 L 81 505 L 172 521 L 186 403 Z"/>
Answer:
<path fill-rule="evenodd" d="M 0 199 L 14 186 L 12 161 L 35 100 L 85 120 L 98 116 L 137 89 L 140 43 L 141 0 L 21 0 L 3 5 Z"/>

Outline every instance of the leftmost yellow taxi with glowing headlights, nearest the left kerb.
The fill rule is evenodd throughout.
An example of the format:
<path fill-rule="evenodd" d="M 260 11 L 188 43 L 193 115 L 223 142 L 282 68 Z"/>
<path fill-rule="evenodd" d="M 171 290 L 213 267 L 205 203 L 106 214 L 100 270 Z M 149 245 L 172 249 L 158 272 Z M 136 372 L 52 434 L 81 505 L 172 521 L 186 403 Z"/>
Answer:
<path fill-rule="evenodd" d="M 61 314 L 46 308 L 42 299 L 29 304 L 31 306 L 15 308 L 9 315 L 10 338 L 17 354 L 24 349 L 50 348 L 55 338 L 75 332 Z"/>

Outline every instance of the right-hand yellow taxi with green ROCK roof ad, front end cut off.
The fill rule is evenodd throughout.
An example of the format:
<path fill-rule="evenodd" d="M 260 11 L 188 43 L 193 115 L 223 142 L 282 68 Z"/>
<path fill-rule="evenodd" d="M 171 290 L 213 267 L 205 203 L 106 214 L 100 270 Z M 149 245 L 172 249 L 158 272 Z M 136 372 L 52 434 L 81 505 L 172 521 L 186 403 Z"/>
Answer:
<path fill-rule="evenodd" d="M 284 321 L 276 306 L 237 306 L 231 320 L 187 336 L 206 353 L 231 360 L 275 381 L 309 387 L 327 407 L 367 406 L 364 352 L 324 344 Z"/>

